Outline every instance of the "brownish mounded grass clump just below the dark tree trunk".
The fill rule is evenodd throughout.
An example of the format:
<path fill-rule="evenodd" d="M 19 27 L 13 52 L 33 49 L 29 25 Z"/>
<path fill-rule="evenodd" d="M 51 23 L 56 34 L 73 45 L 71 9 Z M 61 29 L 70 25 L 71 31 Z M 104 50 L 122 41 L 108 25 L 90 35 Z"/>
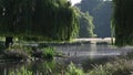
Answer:
<path fill-rule="evenodd" d="M 12 45 L 2 53 L 4 60 L 27 60 L 30 56 L 30 49 L 22 45 Z"/>

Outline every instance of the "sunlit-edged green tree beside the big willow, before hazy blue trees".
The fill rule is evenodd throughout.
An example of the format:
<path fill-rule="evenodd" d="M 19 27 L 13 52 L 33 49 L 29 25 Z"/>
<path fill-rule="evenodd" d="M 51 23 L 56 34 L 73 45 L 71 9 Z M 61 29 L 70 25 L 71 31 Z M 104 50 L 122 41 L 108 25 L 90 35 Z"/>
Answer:
<path fill-rule="evenodd" d="M 89 12 L 82 12 L 79 8 L 76 9 L 78 18 L 79 18 L 79 24 L 80 24 L 80 31 L 79 31 L 79 38 L 93 38 L 95 36 L 93 30 L 93 17 L 89 14 Z"/>

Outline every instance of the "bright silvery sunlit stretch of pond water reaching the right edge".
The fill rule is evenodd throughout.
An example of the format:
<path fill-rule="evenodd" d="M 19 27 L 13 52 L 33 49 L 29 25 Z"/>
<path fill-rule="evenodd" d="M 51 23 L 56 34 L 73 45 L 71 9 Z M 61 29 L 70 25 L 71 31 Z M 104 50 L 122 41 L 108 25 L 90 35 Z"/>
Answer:
<path fill-rule="evenodd" d="M 62 52 L 69 57 L 89 56 L 91 58 L 99 56 L 126 55 L 133 50 L 132 46 L 114 47 L 109 44 L 65 44 L 57 46 L 58 52 Z"/>

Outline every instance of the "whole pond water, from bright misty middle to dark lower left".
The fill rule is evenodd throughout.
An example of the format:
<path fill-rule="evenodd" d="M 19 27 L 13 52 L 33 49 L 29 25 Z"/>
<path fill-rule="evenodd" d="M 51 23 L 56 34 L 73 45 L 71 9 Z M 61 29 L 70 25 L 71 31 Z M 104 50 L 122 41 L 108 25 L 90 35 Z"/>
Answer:
<path fill-rule="evenodd" d="M 106 61 L 112 61 L 114 56 L 126 54 L 126 52 L 133 50 L 133 47 L 116 49 L 109 44 L 89 43 L 54 44 L 52 46 L 55 47 L 57 52 L 65 54 L 66 57 L 55 57 L 52 61 L 0 63 L 0 75 L 9 75 L 11 71 L 17 71 L 21 67 L 32 71 L 34 75 L 58 75 L 57 73 L 65 69 L 71 62 L 86 72 L 92 68 L 92 64 L 103 64 Z"/>

